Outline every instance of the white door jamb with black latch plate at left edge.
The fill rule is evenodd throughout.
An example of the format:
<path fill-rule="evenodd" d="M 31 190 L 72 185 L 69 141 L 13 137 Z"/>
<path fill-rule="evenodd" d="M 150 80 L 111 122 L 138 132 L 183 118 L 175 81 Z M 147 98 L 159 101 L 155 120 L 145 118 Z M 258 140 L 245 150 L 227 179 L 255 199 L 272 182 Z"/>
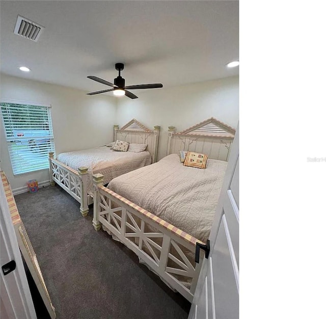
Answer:
<path fill-rule="evenodd" d="M 5 190 L 0 182 L 1 221 L 1 312 L 2 319 L 36 319 L 30 288 L 22 263 L 15 229 L 11 221 Z M 9 262 L 15 261 L 16 268 Z M 12 264 L 12 263 L 11 263 Z M 11 265 L 10 264 L 10 265 Z M 14 269 L 14 270 L 12 270 Z"/>

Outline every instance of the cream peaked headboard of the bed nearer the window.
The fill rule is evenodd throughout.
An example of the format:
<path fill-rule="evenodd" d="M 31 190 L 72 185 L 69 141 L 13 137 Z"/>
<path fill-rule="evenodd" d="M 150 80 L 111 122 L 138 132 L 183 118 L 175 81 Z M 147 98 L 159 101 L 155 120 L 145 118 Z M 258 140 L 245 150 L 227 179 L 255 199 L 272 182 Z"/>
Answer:
<path fill-rule="evenodd" d="M 119 125 L 114 125 L 114 140 L 125 141 L 129 143 L 148 144 L 147 151 L 152 156 L 152 163 L 157 159 L 157 145 L 160 126 L 154 126 L 154 130 L 150 130 L 135 119 L 129 121 L 126 125 L 119 129 Z"/>

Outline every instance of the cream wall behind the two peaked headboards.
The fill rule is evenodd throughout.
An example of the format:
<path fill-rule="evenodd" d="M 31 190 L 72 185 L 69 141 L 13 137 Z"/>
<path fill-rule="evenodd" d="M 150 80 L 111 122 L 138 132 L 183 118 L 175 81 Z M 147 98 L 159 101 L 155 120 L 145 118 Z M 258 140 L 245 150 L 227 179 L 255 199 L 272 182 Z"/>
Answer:
<path fill-rule="evenodd" d="M 160 125 L 158 159 L 166 155 L 168 126 L 177 131 L 210 117 L 236 127 L 239 119 L 239 77 L 233 76 L 173 88 L 133 90 L 139 98 L 118 100 L 116 123 L 132 118 L 153 129 Z"/>

